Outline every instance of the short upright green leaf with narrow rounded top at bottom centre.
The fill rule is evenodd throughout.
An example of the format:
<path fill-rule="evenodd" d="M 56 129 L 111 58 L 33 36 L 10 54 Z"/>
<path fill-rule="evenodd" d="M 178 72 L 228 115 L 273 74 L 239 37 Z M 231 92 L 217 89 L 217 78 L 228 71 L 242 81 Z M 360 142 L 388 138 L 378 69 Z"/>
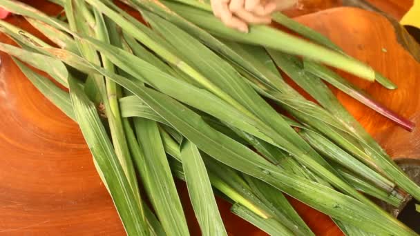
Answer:
<path fill-rule="evenodd" d="M 227 235 L 198 148 L 191 141 L 185 141 L 181 157 L 189 196 L 202 235 Z"/>

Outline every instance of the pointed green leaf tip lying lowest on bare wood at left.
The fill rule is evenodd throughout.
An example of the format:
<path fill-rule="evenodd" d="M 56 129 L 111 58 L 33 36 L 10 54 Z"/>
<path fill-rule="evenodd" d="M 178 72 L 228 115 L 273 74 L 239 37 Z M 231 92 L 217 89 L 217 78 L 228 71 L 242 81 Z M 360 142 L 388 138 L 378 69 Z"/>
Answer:
<path fill-rule="evenodd" d="M 75 112 L 70 101 L 68 92 L 61 90 L 50 79 L 38 75 L 32 71 L 28 66 L 21 63 L 19 60 L 12 57 L 13 61 L 19 66 L 23 74 L 31 81 L 31 83 L 42 93 L 48 100 L 57 106 L 64 114 L 75 121 Z"/>

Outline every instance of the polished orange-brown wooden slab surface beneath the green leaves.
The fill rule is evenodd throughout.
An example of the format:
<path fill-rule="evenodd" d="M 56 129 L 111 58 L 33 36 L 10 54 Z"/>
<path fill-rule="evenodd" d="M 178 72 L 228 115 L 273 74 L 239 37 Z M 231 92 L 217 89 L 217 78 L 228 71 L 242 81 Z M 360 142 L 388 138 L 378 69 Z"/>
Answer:
<path fill-rule="evenodd" d="M 57 10 L 41 1 L 32 3 L 48 8 L 46 12 Z M 390 91 L 346 75 L 419 124 L 419 63 L 399 46 L 388 21 L 352 8 L 326 10 L 298 20 L 397 83 L 399 89 Z M 28 26 L 19 17 L 9 21 Z M 11 42 L 4 35 L 0 41 Z M 0 235 L 124 235 L 77 125 L 37 92 L 10 57 L 0 53 L 0 59 Z M 406 132 L 343 93 L 336 95 L 392 157 L 420 157 L 419 128 Z M 193 222 L 191 235 L 199 235 L 187 189 L 182 183 L 178 187 L 189 222 Z M 341 235 L 327 216 L 291 201 L 317 235 Z M 265 235 L 229 213 L 225 201 L 219 199 L 218 204 L 229 235 Z"/>

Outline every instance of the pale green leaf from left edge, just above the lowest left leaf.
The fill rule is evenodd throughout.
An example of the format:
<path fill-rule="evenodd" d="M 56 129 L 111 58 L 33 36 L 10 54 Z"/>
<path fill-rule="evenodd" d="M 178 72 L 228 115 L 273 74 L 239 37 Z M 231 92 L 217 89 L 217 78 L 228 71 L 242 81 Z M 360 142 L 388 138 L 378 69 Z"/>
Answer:
<path fill-rule="evenodd" d="M 0 43 L 0 50 L 6 52 L 8 55 L 19 58 L 21 61 L 24 61 L 39 70 L 47 72 L 48 75 L 61 83 L 62 86 L 68 87 L 68 71 L 61 61 L 35 52 L 28 52 L 27 50 L 5 43 Z M 48 61 L 48 63 L 45 63 L 45 61 Z"/>

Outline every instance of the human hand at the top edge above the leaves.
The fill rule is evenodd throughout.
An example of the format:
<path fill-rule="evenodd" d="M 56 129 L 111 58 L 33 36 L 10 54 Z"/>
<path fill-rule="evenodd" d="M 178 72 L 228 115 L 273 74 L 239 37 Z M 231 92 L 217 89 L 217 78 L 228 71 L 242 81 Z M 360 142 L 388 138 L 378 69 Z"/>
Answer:
<path fill-rule="evenodd" d="M 248 24 L 270 23 L 270 14 L 294 6 L 298 0 L 211 0 L 213 14 L 226 26 L 248 32 Z"/>

